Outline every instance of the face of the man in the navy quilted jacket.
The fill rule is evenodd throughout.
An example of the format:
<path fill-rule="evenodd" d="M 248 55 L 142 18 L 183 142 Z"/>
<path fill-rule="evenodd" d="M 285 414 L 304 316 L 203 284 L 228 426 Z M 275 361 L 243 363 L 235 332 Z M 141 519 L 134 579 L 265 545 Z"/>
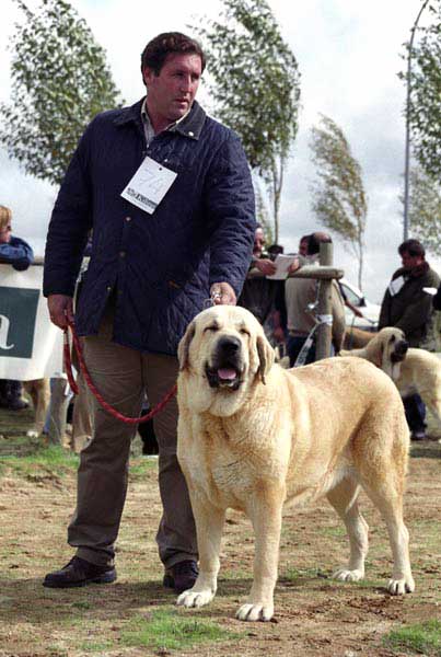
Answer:
<path fill-rule="evenodd" d="M 201 70 L 199 55 L 181 53 L 167 55 L 159 76 L 144 68 L 149 113 L 166 124 L 182 118 L 195 100 Z"/>

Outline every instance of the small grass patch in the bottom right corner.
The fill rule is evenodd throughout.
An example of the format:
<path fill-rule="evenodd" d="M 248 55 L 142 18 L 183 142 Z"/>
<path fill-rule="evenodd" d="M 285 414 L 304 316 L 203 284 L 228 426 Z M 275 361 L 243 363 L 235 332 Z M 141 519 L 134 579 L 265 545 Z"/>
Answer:
<path fill-rule="evenodd" d="M 441 657 L 441 621 L 433 619 L 393 630 L 386 634 L 383 643 L 394 650 Z"/>

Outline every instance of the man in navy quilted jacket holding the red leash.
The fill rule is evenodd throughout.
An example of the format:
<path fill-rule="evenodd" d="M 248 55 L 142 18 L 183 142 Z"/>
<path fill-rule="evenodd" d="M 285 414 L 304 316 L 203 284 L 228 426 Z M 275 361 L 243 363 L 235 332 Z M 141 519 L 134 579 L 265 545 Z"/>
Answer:
<path fill-rule="evenodd" d="M 51 320 L 73 320 L 72 295 L 88 232 L 92 254 L 76 311 L 94 383 L 119 412 L 138 416 L 173 387 L 177 344 L 207 299 L 234 304 L 249 264 L 254 195 L 237 136 L 195 101 L 205 56 L 165 33 L 141 57 L 147 97 L 97 115 L 59 192 L 47 238 L 45 295 Z M 176 402 L 155 418 L 163 516 L 158 531 L 164 586 L 197 576 L 195 526 L 176 459 Z M 73 560 L 49 587 L 116 578 L 114 543 L 135 427 L 94 403 L 94 435 L 81 453 L 68 540 Z"/>

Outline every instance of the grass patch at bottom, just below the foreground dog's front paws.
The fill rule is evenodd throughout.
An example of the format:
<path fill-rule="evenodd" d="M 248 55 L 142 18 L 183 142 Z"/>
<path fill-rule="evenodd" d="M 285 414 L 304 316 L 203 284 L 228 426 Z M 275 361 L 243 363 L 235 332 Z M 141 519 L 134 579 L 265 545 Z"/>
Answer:
<path fill-rule="evenodd" d="M 224 630 L 210 621 L 186 618 L 176 610 L 154 611 L 149 616 L 137 615 L 121 632 L 125 646 L 162 649 L 184 649 L 198 643 L 237 639 L 242 634 Z"/>

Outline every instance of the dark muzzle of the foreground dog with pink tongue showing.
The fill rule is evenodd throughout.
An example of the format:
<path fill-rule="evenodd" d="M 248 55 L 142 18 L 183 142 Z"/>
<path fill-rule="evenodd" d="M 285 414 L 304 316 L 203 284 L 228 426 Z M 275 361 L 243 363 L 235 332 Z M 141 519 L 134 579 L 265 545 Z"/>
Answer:
<path fill-rule="evenodd" d="M 212 364 L 206 364 L 205 371 L 210 388 L 237 390 L 243 372 L 242 343 L 233 335 L 219 339 L 214 347 Z"/>

